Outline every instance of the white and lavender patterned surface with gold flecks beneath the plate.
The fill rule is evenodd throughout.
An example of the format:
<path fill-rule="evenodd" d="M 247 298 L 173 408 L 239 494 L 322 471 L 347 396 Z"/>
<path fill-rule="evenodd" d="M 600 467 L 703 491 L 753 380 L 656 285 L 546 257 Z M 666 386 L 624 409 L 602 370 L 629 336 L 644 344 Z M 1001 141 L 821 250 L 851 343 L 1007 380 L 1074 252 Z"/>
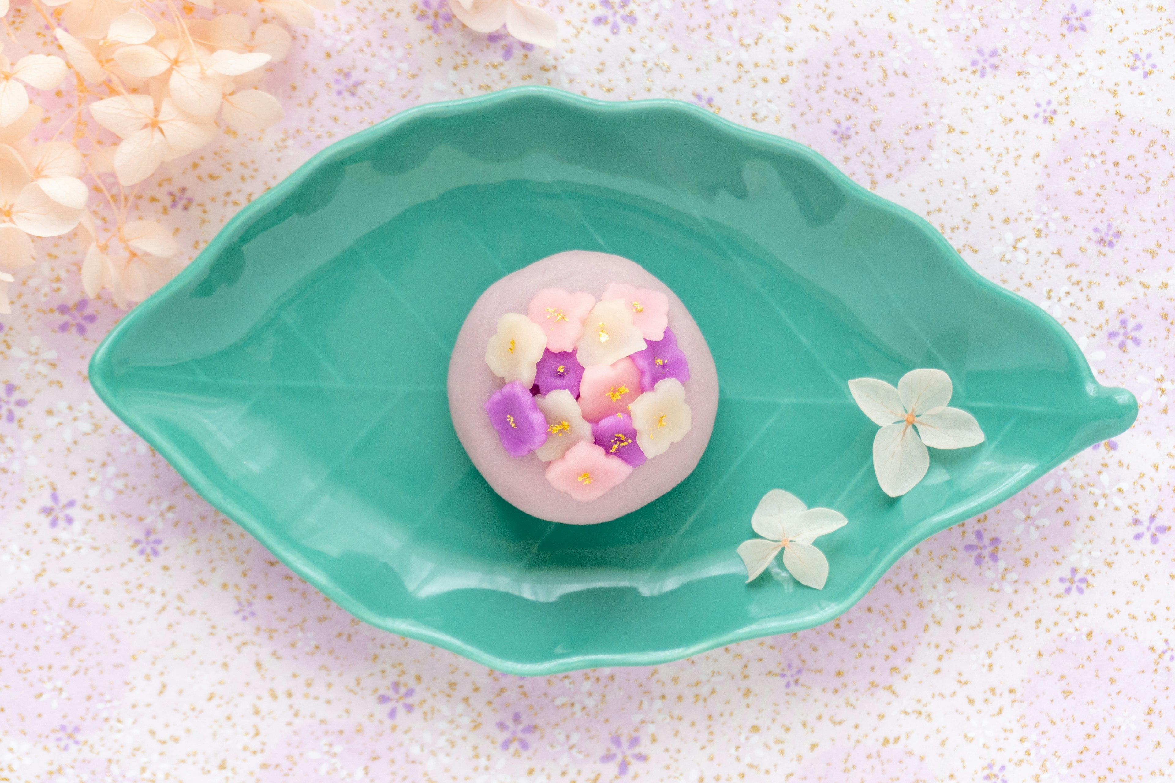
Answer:
<path fill-rule="evenodd" d="M 46 241 L 0 332 L 0 777 L 1169 776 L 1169 8 L 551 2 L 556 55 L 437 6 L 350 2 L 300 35 L 267 81 L 287 120 L 170 164 L 147 215 L 194 255 L 311 153 L 418 102 L 519 83 L 677 97 L 925 215 L 1130 389 L 1137 424 L 926 541 L 827 626 L 523 680 L 362 626 L 200 500 L 89 390 L 119 311 L 86 303 L 73 244 Z"/>

